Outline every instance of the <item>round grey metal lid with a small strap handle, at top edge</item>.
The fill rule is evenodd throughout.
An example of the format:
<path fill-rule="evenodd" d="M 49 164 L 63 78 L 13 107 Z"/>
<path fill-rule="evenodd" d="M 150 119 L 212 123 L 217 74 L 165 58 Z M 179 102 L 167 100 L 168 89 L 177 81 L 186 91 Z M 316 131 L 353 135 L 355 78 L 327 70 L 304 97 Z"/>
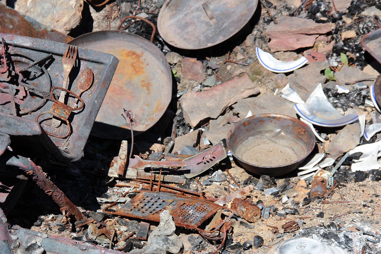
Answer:
<path fill-rule="evenodd" d="M 253 16 L 258 0 L 167 0 L 157 29 L 170 45 L 207 48 L 229 39 Z"/>

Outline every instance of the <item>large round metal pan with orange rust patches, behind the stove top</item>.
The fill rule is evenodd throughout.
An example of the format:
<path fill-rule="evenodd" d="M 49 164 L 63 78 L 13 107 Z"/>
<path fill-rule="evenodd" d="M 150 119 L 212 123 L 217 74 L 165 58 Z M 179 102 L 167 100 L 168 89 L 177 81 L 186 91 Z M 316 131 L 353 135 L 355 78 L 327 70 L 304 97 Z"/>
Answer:
<path fill-rule="evenodd" d="M 123 108 L 133 111 L 134 135 L 146 131 L 162 117 L 171 101 L 172 76 L 165 56 L 153 43 L 127 32 L 99 31 L 81 35 L 70 44 L 106 52 L 119 59 L 92 135 L 113 139 L 130 137 L 130 127 L 121 116 Z"/>

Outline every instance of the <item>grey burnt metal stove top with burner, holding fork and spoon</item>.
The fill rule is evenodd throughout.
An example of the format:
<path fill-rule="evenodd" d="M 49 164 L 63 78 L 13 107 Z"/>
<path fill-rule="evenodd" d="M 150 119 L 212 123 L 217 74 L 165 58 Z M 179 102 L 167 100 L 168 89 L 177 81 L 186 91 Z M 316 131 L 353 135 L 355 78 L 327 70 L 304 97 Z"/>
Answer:
<path fill-rule="evenodd" d="M 78 48 L 77 61 L 70 72 L 67 89 L 70 93 L 80 92 L 77 88 L 78 76 L 85 68 L 93 71 L 94 82 L 80 96 L 84 107 L 70 114 L 68 121 L 71 132 L 68 137 L 57 138 L 48 136 L 45 132 L 62 135 L 68 131 L 65 124 L 54 129 L 51 126 L 52 116 L 49 114 L 55 104 L 53 97 L 57 98 L 59 95 L 59 90 L 54 87 L 61 88 L 64 84 L 62 56 L 68 45 L 13 34 L 0 33 L 0 37 L 4 38 L 0 46 L 5 43 L 8 48 L 8 65 L 13 66 L 8 67 L 12 72 L 10 76 L 9 70 L 0 70 L 0 132 L 13 136 L 12 147 L 19 144 L 25 148 L 29 145 L 30 153 L 44 153 L 45 151 L 38 151 L 35 146 L 41 144 L 58 159 L 75 161 L 82 158 L 83 148 L 118 59 L 106 53 Z M 4 68 L 3 62 L 2 59 L 0 69 Z M 58 92 L 54 93 L 53 88 Z M 10 93 L 12 89 L 14 96 Z M 73 104 L 74 99 L 67 95 L 66 103 Z M 37 116 L 41 116 L 38 121 Z M 14 142 L 16 139 L 18 142 Z"/>

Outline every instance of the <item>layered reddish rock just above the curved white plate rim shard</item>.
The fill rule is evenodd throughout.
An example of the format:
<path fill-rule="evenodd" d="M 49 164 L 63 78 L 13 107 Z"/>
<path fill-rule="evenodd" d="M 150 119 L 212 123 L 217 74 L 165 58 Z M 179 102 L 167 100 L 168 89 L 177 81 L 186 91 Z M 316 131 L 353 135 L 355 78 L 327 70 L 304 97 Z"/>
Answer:
<path fill-rule="evenodd" d="M 297 17 L 280 17 L 278 24 L 271 23 L 266 29 L 271 41 L 271 51 L 289 51 L 298 48 L 312 47 L 320 34 L 332 30 L 332 23 L 316 23 L 312 19 Z"/>

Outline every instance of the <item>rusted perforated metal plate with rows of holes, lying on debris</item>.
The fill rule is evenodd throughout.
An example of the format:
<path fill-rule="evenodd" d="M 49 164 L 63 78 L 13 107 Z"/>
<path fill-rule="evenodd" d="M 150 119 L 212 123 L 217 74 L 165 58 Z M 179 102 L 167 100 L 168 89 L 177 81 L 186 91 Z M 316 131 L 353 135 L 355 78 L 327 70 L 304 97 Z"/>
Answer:
<path fill-rule="evenodd" d="M 160 222 L 159 213 L 164 209 L 168 209 L 176 225 L 195 229 L 221 206 L 173 193 L 142 191 L 112 214 Z"/>

